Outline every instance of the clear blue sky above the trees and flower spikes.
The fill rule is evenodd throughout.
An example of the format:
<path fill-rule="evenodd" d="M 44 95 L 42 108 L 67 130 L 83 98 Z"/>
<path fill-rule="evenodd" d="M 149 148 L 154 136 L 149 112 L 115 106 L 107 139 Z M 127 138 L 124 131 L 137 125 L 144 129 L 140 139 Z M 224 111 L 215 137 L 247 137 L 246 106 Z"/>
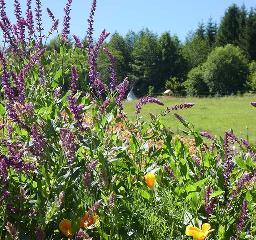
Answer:
<path fill-rule="evenodd" d="M 46 7 L 52 10 L 62 24 L 63 8 L 67 0 L 41 1 L 45 29 L 48 30 L 51 24 Z M 35 0 L 32 2 L 34 4 Z M 70 32 L 80 38 L 84 38 L 86 34 L 86 19 L 91 2 L 92 0 L 73 0 L 72 3 Z M 26 0 L 20 0 L 20 3 L 25 10 Z M 256 7 L 254 0 L 98 0 L 94 37 L 98 38 L 103 28 L 111 33 L 117 31 L 124 36 L 128 30 L 137 32 L 148 27 L 157 34 L 168 30 L 183 41 L 188 31 L 194 30 L 198 22 L 207 22 L 212 16 L 219 23 L 224 10 L 233 3 L 238 6 L 244 3 L 247 9 Z M 14 23 L 12 4 L 13 0 L 6 0 L 7 14 Z"/>

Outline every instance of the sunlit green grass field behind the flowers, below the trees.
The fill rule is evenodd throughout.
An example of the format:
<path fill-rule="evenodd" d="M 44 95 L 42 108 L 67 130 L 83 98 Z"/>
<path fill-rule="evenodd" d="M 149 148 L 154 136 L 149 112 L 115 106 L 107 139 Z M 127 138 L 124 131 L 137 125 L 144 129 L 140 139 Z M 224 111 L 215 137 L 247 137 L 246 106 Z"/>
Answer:
<path fill-rule="evenodd" d="M 189 120 L 200 132 L 210 132 L 212 135 L 224 136 L 224 132 L 233 128 L 238 137 L 247 138 L 246 126 L 248 126 L 249 141 L 256 143 L 256 108 L 250 102 L 256 102 L 256 95 L 228 96 L 222 98 L 177 98 L 159 97 L 165 106 L 147 103 L 142 106 L 140 116 L 143 120 L 150 119 L 149 112 L 158 114 L 160 109 L 165 110 L 167 106 L 174 106 L 184 102 L 193 102 L 195 105 L 190 109 L 178 110 L 178 114 Z M 124 111 L 128 119 L 135 120 L 135 104 L 139 100 L 124 102 Z M 182 124 L 174 117 L 174 112 L 162 117 L 166 126 L 170 127 L 176 134 L 182 132 Z M 241 134 L 242 132 L 242 134 Z"/>

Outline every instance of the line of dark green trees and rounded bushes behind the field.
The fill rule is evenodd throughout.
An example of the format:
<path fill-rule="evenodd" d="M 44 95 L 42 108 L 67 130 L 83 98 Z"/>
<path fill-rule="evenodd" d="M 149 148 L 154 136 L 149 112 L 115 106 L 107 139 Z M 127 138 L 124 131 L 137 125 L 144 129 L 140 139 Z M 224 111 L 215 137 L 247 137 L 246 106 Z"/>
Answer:
<path fill-rule="evenodd" d="M 54 40 L 47 47 L 58 48 Z M 256 9 L 244 5 L 228 7 L 219 26 L 212 18 L 200 22 L 184 43 L 146 28 L 124 37 L 115 32 L 104 48 L 115 56 L 118 80 L 128 76 L 137 96 L 166 89 L 187 95 L 256 90 Z M 100 51 L 98 72 L 106 83 L 109 64 Z"/>

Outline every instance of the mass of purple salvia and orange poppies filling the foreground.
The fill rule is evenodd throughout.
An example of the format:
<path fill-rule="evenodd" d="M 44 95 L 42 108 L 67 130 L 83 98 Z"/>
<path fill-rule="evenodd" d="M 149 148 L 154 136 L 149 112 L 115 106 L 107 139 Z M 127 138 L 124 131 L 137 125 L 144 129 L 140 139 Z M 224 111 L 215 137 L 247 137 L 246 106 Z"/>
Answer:
<path fill-rule="evenodd" d="M 224 138 L 200 133 L 175 112 L 194 137 L 190 152 L 161 119 L 193 103 L 144 122 L 144 104 L 164 105 L 146 96 L 129 121 L 122 105 L 129 82 L 118 82 L 109 50 L 110 83 L 97 71 L 110 33 L 94 42 L 96 3 L 82 48 L 75 35 L 68 47 L 72 0 L 62 31 L 47 8 L 47 34 L 40 0 L 34 11 L 27 0 L 24 16 L 14 0 L 15 24 L 0 0 L 0 239 L 253 239 L 254 147 L 232 130 Z M 52 34 L 58 51 L 45 48 Z"/>

